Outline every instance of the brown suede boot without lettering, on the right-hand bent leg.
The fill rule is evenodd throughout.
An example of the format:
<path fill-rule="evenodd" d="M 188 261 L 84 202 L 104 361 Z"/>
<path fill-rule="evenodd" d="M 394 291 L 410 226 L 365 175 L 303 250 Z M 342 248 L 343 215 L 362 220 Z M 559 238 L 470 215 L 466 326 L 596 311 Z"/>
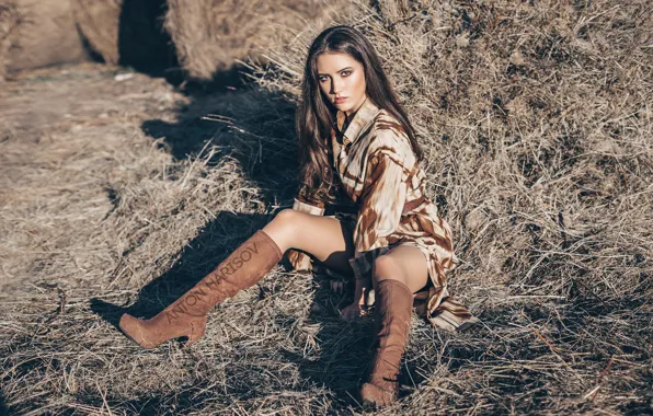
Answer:
<path fill-rule="evenodd" d="M 375 290 L 375 346 L 367 383 L 360 386 L 364 406 L 388 406 L 397 400 L 401 356 L 408 342 L 413 293 L 398 280 L 382 280 Z"/>

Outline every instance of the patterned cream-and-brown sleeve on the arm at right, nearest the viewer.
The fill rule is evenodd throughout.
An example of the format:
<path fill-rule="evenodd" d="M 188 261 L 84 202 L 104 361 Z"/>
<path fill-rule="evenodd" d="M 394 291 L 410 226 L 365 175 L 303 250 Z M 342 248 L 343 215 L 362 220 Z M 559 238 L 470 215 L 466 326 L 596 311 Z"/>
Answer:
<path fill-rule="evenodd" d="M 358 258 L 367 251 L 385 244 L 381 238 L 390 235 L 401 219 L 406 198 L 403 166 L 387 152 L 377 152 L 369 159 L 360 210 L 354 230 L 354 257 L 350 264 L 356 278 L 363 278 Z"/>

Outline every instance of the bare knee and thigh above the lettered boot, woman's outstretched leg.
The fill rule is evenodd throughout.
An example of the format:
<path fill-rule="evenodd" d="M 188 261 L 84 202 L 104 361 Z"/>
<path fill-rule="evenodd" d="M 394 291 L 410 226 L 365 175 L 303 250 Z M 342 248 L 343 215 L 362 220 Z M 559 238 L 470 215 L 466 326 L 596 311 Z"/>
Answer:
<path fill-rule="evenodd" d="M 300 250 L 328 267 L 352 271 L 348 262 L 354 256 L 352 232 L 335 218 L 285 209 L 263 230 L 283 252 L 288 249 Z"/>

